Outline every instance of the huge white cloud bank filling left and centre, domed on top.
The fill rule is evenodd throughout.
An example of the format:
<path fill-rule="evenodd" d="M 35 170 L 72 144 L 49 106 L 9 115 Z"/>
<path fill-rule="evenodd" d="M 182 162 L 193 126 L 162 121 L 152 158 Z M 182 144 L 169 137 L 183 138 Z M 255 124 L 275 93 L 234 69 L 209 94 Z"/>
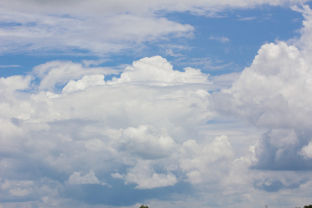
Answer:
<path fill-rule="evenodd" d="M 6 107 L 1 111 L 1 153 L 6 155 L 1 176 L 33 182 L 31 189 L 3 189 L 5 196 L 35 197 L 44 189 L 44 177 L 58 182 L 66 196 L 77 184 L 83 191 L 120 178 L 125 186 L 154 189 L 179 184 L 179 171 L 189 181 L 196 170 L 203 174 L 200 166 L 179 166 L 178 155 L 184 141 L 198 137 L 196 125 L 214 116 L 207 108 L 209 76 L 199 69 L 175 71 L 159 56 L 138 60 L 120 78 L 104 80 L 105 74 L 118 72 L 55 61 L 35 67 L 31 76 L 1 78 L 1 93 L 7 95 L 1 99 Z M 223 140 L 220 145 L 227 146 Z M 216 160 L 223 157 L 217 146 L 212 150 Z M 60 202 L 55 191 L 49 188 L 37 197 Z"/>

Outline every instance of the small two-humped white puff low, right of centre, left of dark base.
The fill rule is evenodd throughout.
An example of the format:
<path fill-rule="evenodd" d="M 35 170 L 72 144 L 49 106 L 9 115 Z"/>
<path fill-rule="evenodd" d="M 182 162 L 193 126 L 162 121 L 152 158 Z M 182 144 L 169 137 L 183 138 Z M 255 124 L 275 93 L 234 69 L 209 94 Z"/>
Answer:
<path fill-rule="evenodd" d="M 184 141 L 179 157 L 180 168 L 187 174 L 189 182 L 214 184 L 229 171 L 234 152 L 227 136 L 223 135 L 216 137 L 211 144 L 197 144 L 193 139 Z"/>

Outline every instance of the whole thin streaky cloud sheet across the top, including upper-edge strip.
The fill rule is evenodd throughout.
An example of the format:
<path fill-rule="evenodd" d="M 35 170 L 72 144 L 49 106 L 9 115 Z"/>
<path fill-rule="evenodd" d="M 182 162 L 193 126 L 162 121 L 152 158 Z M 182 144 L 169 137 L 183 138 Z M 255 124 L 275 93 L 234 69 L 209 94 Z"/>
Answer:
<path fill-rule="evenodd" d="M 228 8 L 304 3 L 290 1 L 1 1 L 0 53 L 71 53 L 78 49 L 98 56 L 164 37 L 191 37 L 194 28 L 159 17 L 159 12 L 192 12 L 218 16 Z M 216 37 L 227 42 L 227 37 Z M 77 53 L 76 53 L 77 54 Z"/>

